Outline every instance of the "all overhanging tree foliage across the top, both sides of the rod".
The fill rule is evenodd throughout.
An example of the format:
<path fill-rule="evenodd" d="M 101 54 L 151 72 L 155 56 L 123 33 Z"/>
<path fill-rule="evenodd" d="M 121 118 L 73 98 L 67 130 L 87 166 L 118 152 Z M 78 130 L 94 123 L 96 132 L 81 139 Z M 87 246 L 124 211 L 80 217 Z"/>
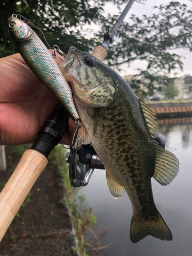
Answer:
<path fill-rule="evenodd" d="M 102 41 L 106 26 L 112 27 L 119 14 L 104 17 L 103 6 L 113 3 L 116 7 L 127 0 L 2 0 L 0 7 L 1 20 L 1 56 L 16 51 L 13 41 L 7 32 L 7 17 L 12 13 L 25 16 L 40 28 L 52 46 L 59 45 L 65 53 L 71 45 L 79 50 L 92 51 Z M 92 5 L 91 5 L 92 4 Z M 132 15 L 130 23 L 123 23 L 117 33 L 117 39 L 110 45 L 106 63 L 114 68 L 121 68 L 122 63 L 134 60 L 146 60 L 146 70 L 138 70 L 135 79 L 142 80 L 149 89 L 158 82 L 155 73 L 162 76 L 161 82 L 168 84 L 168 74 L 177 68 L 182 70 L 181 56 L 169 50 L 185 48 L 192 50 L 192 11 L 179 2 L 154 7 L 154 13 L 138 18 Z M 82 27 L 96 23 L 101 26 L 94 38 L 85 37 Z M 173 28 L 177 33 L 173 32 Z M 42 39 L 42 34 L 34 29 Z"/>

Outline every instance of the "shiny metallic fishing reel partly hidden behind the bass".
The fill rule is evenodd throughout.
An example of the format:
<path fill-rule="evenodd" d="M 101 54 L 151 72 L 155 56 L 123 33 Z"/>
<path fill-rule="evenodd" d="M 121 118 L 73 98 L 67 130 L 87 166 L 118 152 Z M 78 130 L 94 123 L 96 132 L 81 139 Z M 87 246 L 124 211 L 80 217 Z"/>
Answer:
<path fill-rule="evenodd" d="M 165 137 L 161 134 L 156 134 L 155 137 L 159 145 L 165 148 Z M 91 144 L 82 145 L 77 151 L 69 150 L 66 154 L 66 162 L 69 163 L 69 178 L 72 187 L 87 186 L 93 170 L 104 169 L 104 164 Z"/>

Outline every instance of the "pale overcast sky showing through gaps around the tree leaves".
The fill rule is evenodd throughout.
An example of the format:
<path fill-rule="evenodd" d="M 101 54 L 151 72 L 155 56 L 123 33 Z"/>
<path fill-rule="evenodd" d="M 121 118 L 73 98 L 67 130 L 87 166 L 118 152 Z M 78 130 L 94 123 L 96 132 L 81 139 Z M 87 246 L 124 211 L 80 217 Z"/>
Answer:
<path fill-rule="evenodd" d="M 169 2 L 171 2 L 171 1 L 147 0 L 146 2 L 144 2 L 145 3 L 144 5 L 135 2 L 124 20 L 129 22 L 129 17 L 131 16 L 131 14 L 135 14 L 139 17 L 142 17 L 143 14 L 149 16 L 152 14 L 154 6 L 160 6 L 161 4 L 166 5 Z M 180 0 L 178 2 L 180 2 L 181 4 L 185 4 L 187 6 L 187 9 L 192 8 L 192 2 L 190 2 L 188 0 Z M 123 11 L 125 6 L 126 6 L 126 4 L 121 6 L 121 11 Z M 109 11 L 111 14 L 119 13 L 119 10 L 113 4 L 106 5 L 104 10 L 105 10 L 105 13 L 108 13 Z M 100 28 L 95 25 L 94 30 L 95 29 L 100 29 Z M 180 56 L 183 56 L 183 58 L 182 58 L 182 61 L 184 63 L 183 72 L 181 72 L 181 70 L 179 70 L 179 69 L 176 70 L 175 72 L 177 72 L 177 76 L 180 77 L 184 74 L 192 75 L 192 68 L 191 68 L 192 52 L 189 52 L 188 50 L 183 50 L 183 49 L 174 50 L 173 52 L 175 52 L 176 54 L 178 54 Z M 145 68 L 146 65 L 147 65 L 146 61 L 139 61 L 139 60 L 132 62 L 128 68 L 127 68 L 127 64 L 125 64 L 125 65 L 121 66 L 121 68 L 123 68 L 123 70 L 124 70 L 121 72 L 121 75 L 124 76 L 124 75 L 136 74 L 137 73 L 136 69 Z M 172 73 L 172 75 L 173 74 L 174 74 L 174 72 Z"/>

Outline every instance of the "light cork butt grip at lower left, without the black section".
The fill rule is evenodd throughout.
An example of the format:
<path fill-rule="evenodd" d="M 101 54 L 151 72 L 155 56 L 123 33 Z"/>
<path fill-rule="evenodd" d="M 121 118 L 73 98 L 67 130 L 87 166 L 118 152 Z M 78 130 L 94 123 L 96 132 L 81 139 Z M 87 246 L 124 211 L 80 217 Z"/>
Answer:
<path fill-rule="evenodd" d="M 0 242 L 23 204 L 48 159 L 35 150 L 26 150 L 0 193 Z"/>

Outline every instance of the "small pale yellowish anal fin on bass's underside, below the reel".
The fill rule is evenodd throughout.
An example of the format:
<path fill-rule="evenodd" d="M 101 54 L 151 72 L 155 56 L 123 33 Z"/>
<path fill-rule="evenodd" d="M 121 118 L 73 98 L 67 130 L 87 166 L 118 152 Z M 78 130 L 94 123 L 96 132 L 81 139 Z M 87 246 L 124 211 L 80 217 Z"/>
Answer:
<path fill-rule="evenodd" d="M 120 197 L 123 197 L 124 187 L 121 186 L 114 178 L 113 176 L 106 170 L 106 182 L 108 183 L 108 187 L 110 190 L 110 194 L 113 198 L 118 199 Z"/>

